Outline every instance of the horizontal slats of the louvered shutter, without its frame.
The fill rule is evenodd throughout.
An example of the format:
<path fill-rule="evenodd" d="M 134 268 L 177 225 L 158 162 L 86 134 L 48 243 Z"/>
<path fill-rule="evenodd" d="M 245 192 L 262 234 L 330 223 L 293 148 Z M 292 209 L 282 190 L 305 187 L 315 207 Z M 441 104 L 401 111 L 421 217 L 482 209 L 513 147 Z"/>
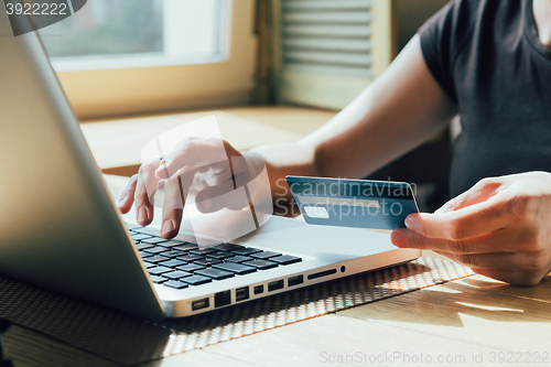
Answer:
<path fill-rule="evenodd" d="M 370 76 L 370 0 L 285 0 L 282 56 L 288 69 Z"/>

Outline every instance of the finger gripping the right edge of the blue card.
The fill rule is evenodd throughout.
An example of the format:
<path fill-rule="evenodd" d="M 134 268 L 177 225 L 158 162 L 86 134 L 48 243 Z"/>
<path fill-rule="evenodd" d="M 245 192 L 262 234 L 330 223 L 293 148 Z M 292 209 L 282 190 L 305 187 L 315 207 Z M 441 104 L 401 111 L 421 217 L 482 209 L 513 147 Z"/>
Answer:
<path fill-rule="evenodd" d="M 458 240 L 504 228 L 509 223 L 504 202 L 493 196 L 455 212 L 414 213 L 406 218 L 406 227 L 430 238 Z"/>

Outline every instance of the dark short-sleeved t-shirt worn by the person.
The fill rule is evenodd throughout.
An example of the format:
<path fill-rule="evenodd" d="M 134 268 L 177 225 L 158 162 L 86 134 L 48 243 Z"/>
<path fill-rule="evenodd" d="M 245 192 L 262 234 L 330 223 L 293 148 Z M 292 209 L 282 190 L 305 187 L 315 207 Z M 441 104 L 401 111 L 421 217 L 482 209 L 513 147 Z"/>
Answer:
<path fill-rule="evenodd" d="M 551 172 L 551 50 L 538 37 L 532 1 L 452 1 L 419 34 L 461 115 L 452 195 L 483 177 Z"/>

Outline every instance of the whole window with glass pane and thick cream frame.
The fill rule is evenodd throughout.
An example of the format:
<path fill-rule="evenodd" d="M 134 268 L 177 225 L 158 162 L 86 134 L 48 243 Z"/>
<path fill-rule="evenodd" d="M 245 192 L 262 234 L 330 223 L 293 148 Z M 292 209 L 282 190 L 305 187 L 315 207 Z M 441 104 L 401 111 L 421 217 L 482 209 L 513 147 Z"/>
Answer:
<path fill-rule="evenodd" d="M 88 0 L 40 31 L 80 119 L 244 105 L 255 0 Z"/>

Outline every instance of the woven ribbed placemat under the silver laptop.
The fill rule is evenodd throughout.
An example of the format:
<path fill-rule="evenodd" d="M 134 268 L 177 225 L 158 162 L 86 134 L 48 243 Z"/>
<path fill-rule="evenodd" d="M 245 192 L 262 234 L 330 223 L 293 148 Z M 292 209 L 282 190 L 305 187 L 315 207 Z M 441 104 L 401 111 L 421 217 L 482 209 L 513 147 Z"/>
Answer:
<path fill-rule="evenodd" d="M 455 262 L 404 265 L 153 324 L 0 277 L 0 317 L 123 365 L 134 365 L 468 277 Z"/>

